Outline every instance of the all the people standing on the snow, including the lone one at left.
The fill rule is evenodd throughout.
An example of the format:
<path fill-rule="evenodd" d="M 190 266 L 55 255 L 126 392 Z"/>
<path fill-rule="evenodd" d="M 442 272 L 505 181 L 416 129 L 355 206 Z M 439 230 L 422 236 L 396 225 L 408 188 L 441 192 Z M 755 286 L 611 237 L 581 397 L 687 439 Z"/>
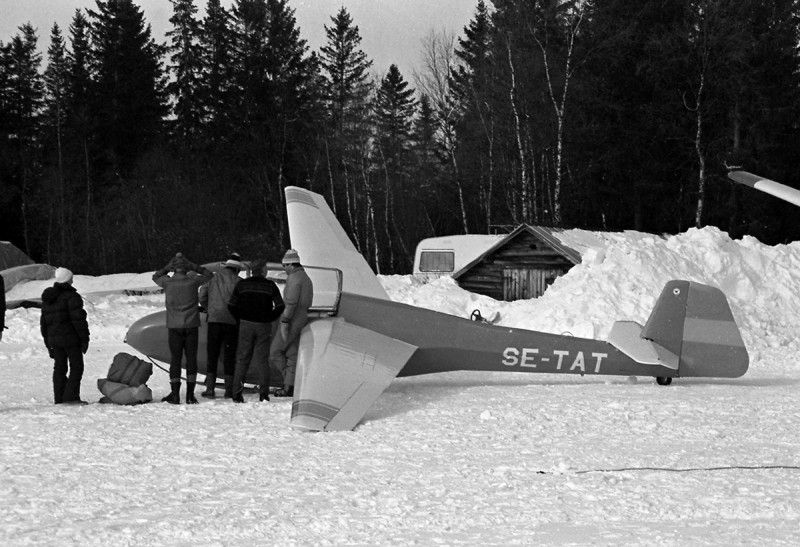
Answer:
<path fill-rule="evenodd" d="M 308 323 L 314 287 L 297 251 L 286 251 L 282 264 L 287 274 L 283 296 L 266 278 L 265 260 L 250 264 L 250 277 L 242 279 L 239 272 L 243 263 L 236 253 L 216 273 L 177 253 L 153 274 L 153 281 L 164 289 L 167 310 L 170 393 L 163 402 L 180 404 L 184 357 L 185 401 L 198 402 L 194 391 L 201 309 L 208 315 L 206 382 L 201 396 L 216 398 L 220 356 L 226 398 L 244 402 L 244 381 L 253 365 L 259 371 L 260 401 L 269 401 L 271 369 L 282 376 L 281 387 L 274 395 L 294 394 L 300 331 Z M 0 336 L 2 326 L 0 323 Z M 83 300 L 72 286 L 72 272 L 66 268 L 56 269 L 55 283 L 42 293 L 41 332 L 54 360 L 55 403 L 86 404 L 80 398 L 80 385 L 83 355 L 89 348 L 89 325 Z"/>

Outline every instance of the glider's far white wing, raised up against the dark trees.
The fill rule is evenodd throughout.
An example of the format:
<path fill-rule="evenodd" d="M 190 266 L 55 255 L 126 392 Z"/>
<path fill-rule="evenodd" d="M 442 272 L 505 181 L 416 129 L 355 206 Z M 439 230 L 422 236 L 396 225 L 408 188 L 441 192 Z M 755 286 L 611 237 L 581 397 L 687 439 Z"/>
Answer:
<path fill-rule="evenodd" d="M 342 291 L 389 300 L 375 273 L 342 229 L 319 194 L 304 188 L 286 188 L 289 237 L 300 261 L 342 271 Z"/>

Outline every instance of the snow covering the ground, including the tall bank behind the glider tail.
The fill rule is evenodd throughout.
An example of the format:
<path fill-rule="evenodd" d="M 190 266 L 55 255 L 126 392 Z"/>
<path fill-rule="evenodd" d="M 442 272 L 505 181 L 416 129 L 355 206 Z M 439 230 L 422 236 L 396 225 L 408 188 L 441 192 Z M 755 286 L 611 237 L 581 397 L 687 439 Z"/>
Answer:
<path fill-rule="evenodd" d="M 448 373 L 395 380 L 352 432 L 303 433 L 291 402 L 52 404 L 39 311 L 0 342 L 2 545 L 798 545 L 800 243 L 714 228 L 571 231 L 583 264 L 537 299 L 382 277 L 390 296 L 605 338 L 674 278 L 720 287 L 751 356 L 738 379 Z M 149 274 L 76 276 L 92 342 L 83 398 L 163 296 Z M 17 286 L 38 296 L 49 283 Z M 167 374 L 148 382 L 156 400 Z"/>

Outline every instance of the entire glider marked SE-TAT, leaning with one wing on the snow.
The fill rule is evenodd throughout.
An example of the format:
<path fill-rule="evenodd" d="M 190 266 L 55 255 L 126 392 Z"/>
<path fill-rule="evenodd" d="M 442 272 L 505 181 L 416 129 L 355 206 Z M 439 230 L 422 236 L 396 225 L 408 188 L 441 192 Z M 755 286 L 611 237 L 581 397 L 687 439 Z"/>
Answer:
<path fill-rule="evenodd" d="M 294 186 L 285 192 L 291 245 L 314 282 L 290 420 L 298 429 L 355 428 L 397 376 L 543 372 L 652 376 L 669 385 L 678 377 L 735 378 L 747 371 L 744 342 L 715 287 L 670 281 L 644 326 L 617 321 L 607 341 L 471 321 L 391 301 L 325 199 Z M 164 315 L 134 323 L 126 342 L 168 361 Z M 198 361 L 204 373 L 202 347 Z"/>

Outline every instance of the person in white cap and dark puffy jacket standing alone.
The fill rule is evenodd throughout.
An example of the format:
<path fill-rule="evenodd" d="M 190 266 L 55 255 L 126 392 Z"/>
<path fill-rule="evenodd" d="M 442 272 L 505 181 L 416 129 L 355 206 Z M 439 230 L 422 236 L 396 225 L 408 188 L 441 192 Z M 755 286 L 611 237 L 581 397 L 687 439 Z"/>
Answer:
<path fill-rule="evenodd" d="M 86 404 L 81 400 L 83 356 L 89 349 L 89 323 L 83 299 L 72 286 L 72 272 L 57 268 L 55 283 L 42 293 L 42 338 L 53 358 L 53 399 L 56 404 Z M 69 375 L 67 375 L 69 371 Z"/>

